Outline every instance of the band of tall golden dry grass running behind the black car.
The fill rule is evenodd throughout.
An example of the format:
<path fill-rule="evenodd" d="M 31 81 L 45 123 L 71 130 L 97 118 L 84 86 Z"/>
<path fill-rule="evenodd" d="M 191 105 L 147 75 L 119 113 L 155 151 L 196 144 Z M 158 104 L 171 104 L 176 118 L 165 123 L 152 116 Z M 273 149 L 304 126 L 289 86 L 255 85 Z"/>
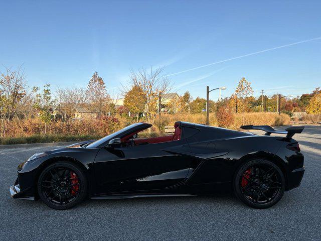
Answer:
<path fill-rule="evenodd" d="M 139 121 L 144 121 L 141 118 Z M 177 121 L 191 122 L 198 124 L 206 123 L 206 114 L 162 114 L 161 118 L 156 117 L 151 132 L 141 133 L 141 137 L 163 135 L 165 126 L 174 126 Z M 115 117 L 102 116 L 98 119 L 83 119 L 79 121 L 53 121 L 48 125 L 47 134 L 44 135 L 43 124 L 38 118 L 14 119 L 6 121 L 4 125 L 5 134 L 0 141 L 11 143 L 14 138 L 25 138 L 16 140 L 17 143 L 52 142 L 62 140 L 84 140 L 86 137 L 101 137 L 109 135 L 130 124 L 136 122 L 135 118 L 117 115 Z M 269 112 L 244 113 L 244 122 L 241 113 L 234 113 L 234 122 L 228 128 L 239 129 L 242 125 L 269 125 L 282 126 L 289 125 L 290 117 L 286 114 L 278 115 Z M 218 126 L 215 113 L 210 113 L 210 125 Z M 28 137 L 26 139 L 26 137 Z M 45 138 L 46 137 L 46 138 Z M 50 138 L 49 138 L 50 137 Z"/>

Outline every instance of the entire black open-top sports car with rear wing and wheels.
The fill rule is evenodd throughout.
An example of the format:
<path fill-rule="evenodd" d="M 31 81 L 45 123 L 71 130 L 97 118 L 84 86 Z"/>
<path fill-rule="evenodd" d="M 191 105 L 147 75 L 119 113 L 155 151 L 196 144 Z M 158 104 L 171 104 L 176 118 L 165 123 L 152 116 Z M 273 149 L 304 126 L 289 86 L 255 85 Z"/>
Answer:
<path fill-rule="evenodd" d="M 300 185 L 303 155 L 292 139 L 304 127 L 276 131 L 243 126 L 264 136 L 175 123 L 175 134 L 137 138 L 137 123 L 97 141 L 38 153 L 18 166 L 14 198 L 41 199 L 67 209 L 91 199 L 187 196 L 233 191 L 245 204 L 267 208 Z M 286 136 L 270 136 L 270 134 Z"/>

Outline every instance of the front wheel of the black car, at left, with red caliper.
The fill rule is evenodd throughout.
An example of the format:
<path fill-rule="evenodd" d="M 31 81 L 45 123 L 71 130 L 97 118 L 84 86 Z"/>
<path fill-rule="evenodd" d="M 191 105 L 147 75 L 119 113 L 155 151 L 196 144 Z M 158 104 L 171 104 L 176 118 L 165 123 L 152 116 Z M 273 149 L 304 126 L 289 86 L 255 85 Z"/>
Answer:
<path fill-rule="evenodd" d="M 59 161 L 41 172 L 37 189 L 47 206 L 62 210 L 77 205 L 87 196 L 88 181 L 79 166 Z"/>

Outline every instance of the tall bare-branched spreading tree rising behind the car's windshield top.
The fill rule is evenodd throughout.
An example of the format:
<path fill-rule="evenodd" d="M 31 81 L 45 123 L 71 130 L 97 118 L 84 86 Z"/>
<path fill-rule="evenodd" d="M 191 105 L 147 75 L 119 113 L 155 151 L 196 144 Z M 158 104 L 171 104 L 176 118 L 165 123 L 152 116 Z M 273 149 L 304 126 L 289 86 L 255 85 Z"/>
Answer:
<path fill-rule="evenodd" d="M 158 98 L 171 90 L 171 81 L 163 75 L 164 68 L 150 70 L 144 68 L 134 72 L 131 70 L 129 76 L 130 86 L 139 86 L 145 99 L 144 112 L 146 122 L 153 123 L 155 114 L 158 111 Z"/>

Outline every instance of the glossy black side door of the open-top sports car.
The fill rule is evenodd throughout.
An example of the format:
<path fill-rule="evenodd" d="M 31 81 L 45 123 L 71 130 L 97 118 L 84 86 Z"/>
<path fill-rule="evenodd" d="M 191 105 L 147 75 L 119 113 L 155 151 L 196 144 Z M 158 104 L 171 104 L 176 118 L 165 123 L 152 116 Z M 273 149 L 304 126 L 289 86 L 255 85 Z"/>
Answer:
<path fill-rule="evenodd" d="M 100 149 L 94 170 L 101 193 L 163 189 L 184 182 L 193 157 L 165 151 L 169 148 L 191 152 L 186 140 Z"/>

